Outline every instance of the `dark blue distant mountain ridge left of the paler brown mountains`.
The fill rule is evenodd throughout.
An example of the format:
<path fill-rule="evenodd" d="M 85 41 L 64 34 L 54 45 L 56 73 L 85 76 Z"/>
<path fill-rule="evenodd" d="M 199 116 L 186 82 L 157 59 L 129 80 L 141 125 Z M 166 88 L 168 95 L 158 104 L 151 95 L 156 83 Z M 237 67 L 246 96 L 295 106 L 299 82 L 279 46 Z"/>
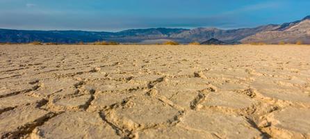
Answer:
<path fill-rule="evenodd" d="M 170 38 L 174 33 L 188 31 L 183 28 L 148 28 L 131 29 L 112 32 L 97 31 L 24 31 L 0 28 L 0 42 L 95 42 L 95 41 L 117 41 L 117 42 L 141 42 L 143 40 L 156 40 Z"/>

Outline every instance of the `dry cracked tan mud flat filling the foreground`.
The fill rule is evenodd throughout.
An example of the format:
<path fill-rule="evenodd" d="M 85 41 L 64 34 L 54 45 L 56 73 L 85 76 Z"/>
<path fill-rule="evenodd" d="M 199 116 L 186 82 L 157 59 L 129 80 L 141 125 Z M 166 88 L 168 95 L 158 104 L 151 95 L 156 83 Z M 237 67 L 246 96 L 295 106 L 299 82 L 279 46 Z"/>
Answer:
<path fill-rule="evenodd" d="M 0 138 L 310 138 L 310 47 L 3 45 Z"/>

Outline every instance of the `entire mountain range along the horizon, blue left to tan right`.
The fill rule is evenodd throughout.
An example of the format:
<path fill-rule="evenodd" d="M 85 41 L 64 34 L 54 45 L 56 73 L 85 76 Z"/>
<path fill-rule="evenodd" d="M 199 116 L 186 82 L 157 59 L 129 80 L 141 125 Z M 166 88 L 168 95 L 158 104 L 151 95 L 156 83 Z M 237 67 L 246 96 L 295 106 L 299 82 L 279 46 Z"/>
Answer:
<path fill-rule="evenodd" d="M 119 32 L 99 31 L 24 31 L 0 29 L 0 42 L 26 43 L 33 41 L 76 43 L 115 41 L 122 43 L 158 43 L 169 40 L 180 43 L 205 42 L 211 38 L 227 44 L 266 42 L 310 44 L 310 16 L 284 24 L 268 24 L 255 28 L 224 30 L 220 28 L 147 28 Z"/>

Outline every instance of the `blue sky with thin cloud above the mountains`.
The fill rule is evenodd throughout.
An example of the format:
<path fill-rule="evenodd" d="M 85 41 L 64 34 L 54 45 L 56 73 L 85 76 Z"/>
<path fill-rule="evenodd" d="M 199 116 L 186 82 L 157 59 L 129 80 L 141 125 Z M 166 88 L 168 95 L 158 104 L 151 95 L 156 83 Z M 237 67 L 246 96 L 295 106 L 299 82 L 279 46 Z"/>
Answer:
<path fill-rule="evenodd" d="M 309 0 L 0 0 L 0 28 L 245 28 L 310 15 Z"/>

